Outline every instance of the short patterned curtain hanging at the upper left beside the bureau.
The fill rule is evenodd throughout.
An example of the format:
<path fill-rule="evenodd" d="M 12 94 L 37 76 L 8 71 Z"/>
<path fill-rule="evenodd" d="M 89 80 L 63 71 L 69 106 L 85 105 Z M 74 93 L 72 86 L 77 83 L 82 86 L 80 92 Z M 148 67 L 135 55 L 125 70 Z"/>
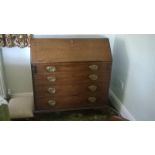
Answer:
<path fill-rule="evenodd" d="M 29 47 L 31 34 L 0 34 L 0 47 Z"/>

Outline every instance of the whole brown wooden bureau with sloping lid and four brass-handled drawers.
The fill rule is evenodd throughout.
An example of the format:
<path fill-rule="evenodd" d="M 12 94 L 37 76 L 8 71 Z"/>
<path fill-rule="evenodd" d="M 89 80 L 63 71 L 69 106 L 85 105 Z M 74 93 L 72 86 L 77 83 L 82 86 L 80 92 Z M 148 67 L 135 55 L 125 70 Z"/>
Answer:
<path fill-rule="evenodd" d="M 32 39 L 35 112 L 104 108 L 111 64 L 107 38 Z"/>

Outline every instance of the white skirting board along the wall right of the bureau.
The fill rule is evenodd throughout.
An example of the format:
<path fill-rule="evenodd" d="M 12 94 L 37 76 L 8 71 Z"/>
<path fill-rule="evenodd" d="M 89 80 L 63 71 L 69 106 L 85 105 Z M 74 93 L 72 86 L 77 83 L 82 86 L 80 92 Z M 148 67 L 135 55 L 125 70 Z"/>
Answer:
<path fill-rule="evenodd" d="M 109 98 L 113 106 L 120 112 L 121 116 L 130 120 L 136 121 L 136 119 L 131 115 L 131 113 L 127 110 L 127 108 L 121 103 L 119 98 L 115 95 L 115 93 L 110 89 Z"/>

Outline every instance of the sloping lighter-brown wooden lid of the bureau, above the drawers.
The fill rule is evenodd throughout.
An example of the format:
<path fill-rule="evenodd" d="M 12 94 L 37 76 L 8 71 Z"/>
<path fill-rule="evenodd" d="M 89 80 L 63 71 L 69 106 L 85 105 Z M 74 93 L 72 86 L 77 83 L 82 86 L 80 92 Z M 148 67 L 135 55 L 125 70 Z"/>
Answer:
<path fill-rule="evenodd" d="M 31 40 L 31 62 L 111 61 L 107 38 Z"/>

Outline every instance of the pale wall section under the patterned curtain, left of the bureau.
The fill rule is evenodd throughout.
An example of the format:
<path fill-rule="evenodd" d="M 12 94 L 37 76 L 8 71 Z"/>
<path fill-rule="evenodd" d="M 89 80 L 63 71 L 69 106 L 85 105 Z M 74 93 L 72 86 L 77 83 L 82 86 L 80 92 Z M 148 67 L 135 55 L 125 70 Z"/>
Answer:
<path fill-rule="evenodd" d="M 30 48 L 2 48 L 8 89 L 13 94 L 32 92 Z"/>

